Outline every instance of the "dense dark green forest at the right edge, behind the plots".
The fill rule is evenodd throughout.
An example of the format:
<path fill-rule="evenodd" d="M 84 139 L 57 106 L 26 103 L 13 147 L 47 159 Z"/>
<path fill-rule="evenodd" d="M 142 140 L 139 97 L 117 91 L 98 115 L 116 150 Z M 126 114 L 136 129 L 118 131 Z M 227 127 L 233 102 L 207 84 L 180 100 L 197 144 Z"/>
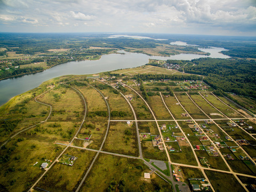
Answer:
<path fill-rule="evenodd" d="M 214 89 L 256 98 L 256 62 L 245 59 L 200 58 L 191 60 L 185 72 L 204 75 L 204 82 Z"/>

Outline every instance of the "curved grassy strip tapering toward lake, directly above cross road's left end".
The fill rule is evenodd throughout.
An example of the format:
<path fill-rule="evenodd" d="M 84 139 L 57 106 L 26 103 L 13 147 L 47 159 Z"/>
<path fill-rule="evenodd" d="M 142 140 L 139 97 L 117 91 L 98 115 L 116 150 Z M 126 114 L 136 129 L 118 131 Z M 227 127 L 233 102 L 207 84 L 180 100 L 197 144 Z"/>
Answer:
<path fill-rule="evenodd" d="M 93 82 L 92 85 L 95 86 L 106 97 L 110 107 L 111 119 L 134 118 L 132 110 L 127 101 L 113 87 L 99 81 Z M 124 95 L 125 94 L 126 93 L 124 93 Z"/>

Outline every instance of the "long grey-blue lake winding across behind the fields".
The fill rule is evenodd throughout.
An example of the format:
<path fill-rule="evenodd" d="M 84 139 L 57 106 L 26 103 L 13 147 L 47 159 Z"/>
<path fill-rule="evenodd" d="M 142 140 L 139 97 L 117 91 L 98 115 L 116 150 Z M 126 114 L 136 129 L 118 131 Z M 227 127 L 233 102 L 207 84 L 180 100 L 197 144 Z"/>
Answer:
<path fill-rule="evenodd" d="M 191 60 L 202 57 L 212 58 L 229 58 L 227 55 L 219 53 L 225 51 L 223 48 L 212 47 L 211 49 L 199 49 L 204 52 L 211 53 L 210 56 L 198 55 L 198 54 L 178 54 L 171 57 L 157 57 L 148 56 L 141 53 L 129 53 L 124 51 L 118 51 L 125 54 L 108 54 L 102 55 L 99 60 L 86 60 L 86 61 L 71 61 L 54 66 L 45 71 L 24 75 L 21 77 L 13 77 L 0 81 L 0 106 L 6 103 L 15 95 L 21 94 L 28 90 L 34 89 L 41 83 L 62 75 L 83 75 L 83 74 L 95 74 L 103 71 L 110 71 L 115 69 L 124 69 L 139 67 L 148 63 L 148 59 L 158 60 Z"/>

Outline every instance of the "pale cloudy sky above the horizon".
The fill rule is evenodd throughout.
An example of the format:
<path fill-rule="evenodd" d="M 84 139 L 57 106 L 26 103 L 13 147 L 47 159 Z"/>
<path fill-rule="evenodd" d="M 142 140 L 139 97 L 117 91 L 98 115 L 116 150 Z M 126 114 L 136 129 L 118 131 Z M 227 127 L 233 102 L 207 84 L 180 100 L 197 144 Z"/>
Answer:
<path fill-rule="evenodd" d="M 256 36 L 256 0 L 0 0 L 0 31 Z"/>

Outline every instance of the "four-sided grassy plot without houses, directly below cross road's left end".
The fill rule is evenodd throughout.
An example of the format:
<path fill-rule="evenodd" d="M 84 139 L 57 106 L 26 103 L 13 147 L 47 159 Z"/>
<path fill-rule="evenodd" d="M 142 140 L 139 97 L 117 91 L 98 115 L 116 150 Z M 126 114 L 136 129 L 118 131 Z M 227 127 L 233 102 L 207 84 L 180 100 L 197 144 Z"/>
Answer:
<path fill-rule="evenodd" d="M 138 156 L 138 140 L 135 123 L 111 122 L 103 150 L 113 153 Z"/>

